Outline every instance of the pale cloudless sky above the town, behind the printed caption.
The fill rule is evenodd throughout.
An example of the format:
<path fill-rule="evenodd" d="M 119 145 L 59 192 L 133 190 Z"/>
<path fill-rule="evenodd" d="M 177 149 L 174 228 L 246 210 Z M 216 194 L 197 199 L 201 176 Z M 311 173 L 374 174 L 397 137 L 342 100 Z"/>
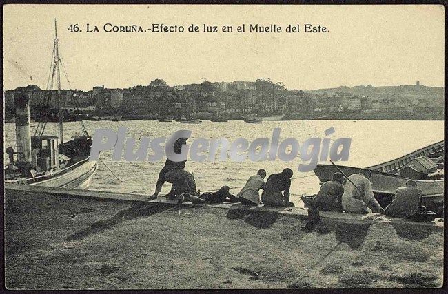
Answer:
<path fill-rule="evenodd" d="M 270 78 L 288 89 L 346 85 L 443 87 L 443 6 L 3 6 L 3 87 L 46 88 L 54 19 L 72 89 Z M 97 25 L 100 32 L 85 32 Z M 103 25 L 183 25 L 183 33 L 113 33 Z M 246 32 L 238 33 L 245 23 Z M 301 33 L 249 33 L 249 24 L 301 25 Z M 305 33 L 303 25 L 327 27 Z M 70 32 L 78 24 L 83 32 Z M 234 32 L 189 33 L 204 24 Z M 62 74 L 62 87 L 68 88 Z"/>

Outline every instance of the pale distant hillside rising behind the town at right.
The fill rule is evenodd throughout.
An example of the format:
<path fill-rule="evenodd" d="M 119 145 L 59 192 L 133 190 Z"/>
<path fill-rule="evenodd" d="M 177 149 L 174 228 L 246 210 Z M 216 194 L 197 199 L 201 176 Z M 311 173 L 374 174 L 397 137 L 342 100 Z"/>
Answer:
<path fill-rule="evenodd" d="M 310 90 L 307 92 L 312 94 L 327 94 L 329 96 L 349 93 L 353 96 L 369 96 L 371 98 L 387 97 L 395 102 L 405 99 L 427 105 L 443 105 L 445 103 L 445 89 L 443 87 L 427 87 L 419 84 L 383 87 L 374 87 L 372 85 L 354 87 L 340 86 L 337 88 Z"/>

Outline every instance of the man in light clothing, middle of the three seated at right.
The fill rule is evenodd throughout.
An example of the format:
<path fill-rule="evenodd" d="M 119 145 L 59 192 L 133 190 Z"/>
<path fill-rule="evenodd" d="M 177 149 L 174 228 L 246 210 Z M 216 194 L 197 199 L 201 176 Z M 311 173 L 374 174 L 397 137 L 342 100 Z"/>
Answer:
<path fill-rule="evenodd" d="M 371 190 L 371 171 L 362 169 L 348 177 L 342 197 L 343 209 L 347 213 L 384 213 Z M 353 183 L 353 184 L 352 184 Z"/>

